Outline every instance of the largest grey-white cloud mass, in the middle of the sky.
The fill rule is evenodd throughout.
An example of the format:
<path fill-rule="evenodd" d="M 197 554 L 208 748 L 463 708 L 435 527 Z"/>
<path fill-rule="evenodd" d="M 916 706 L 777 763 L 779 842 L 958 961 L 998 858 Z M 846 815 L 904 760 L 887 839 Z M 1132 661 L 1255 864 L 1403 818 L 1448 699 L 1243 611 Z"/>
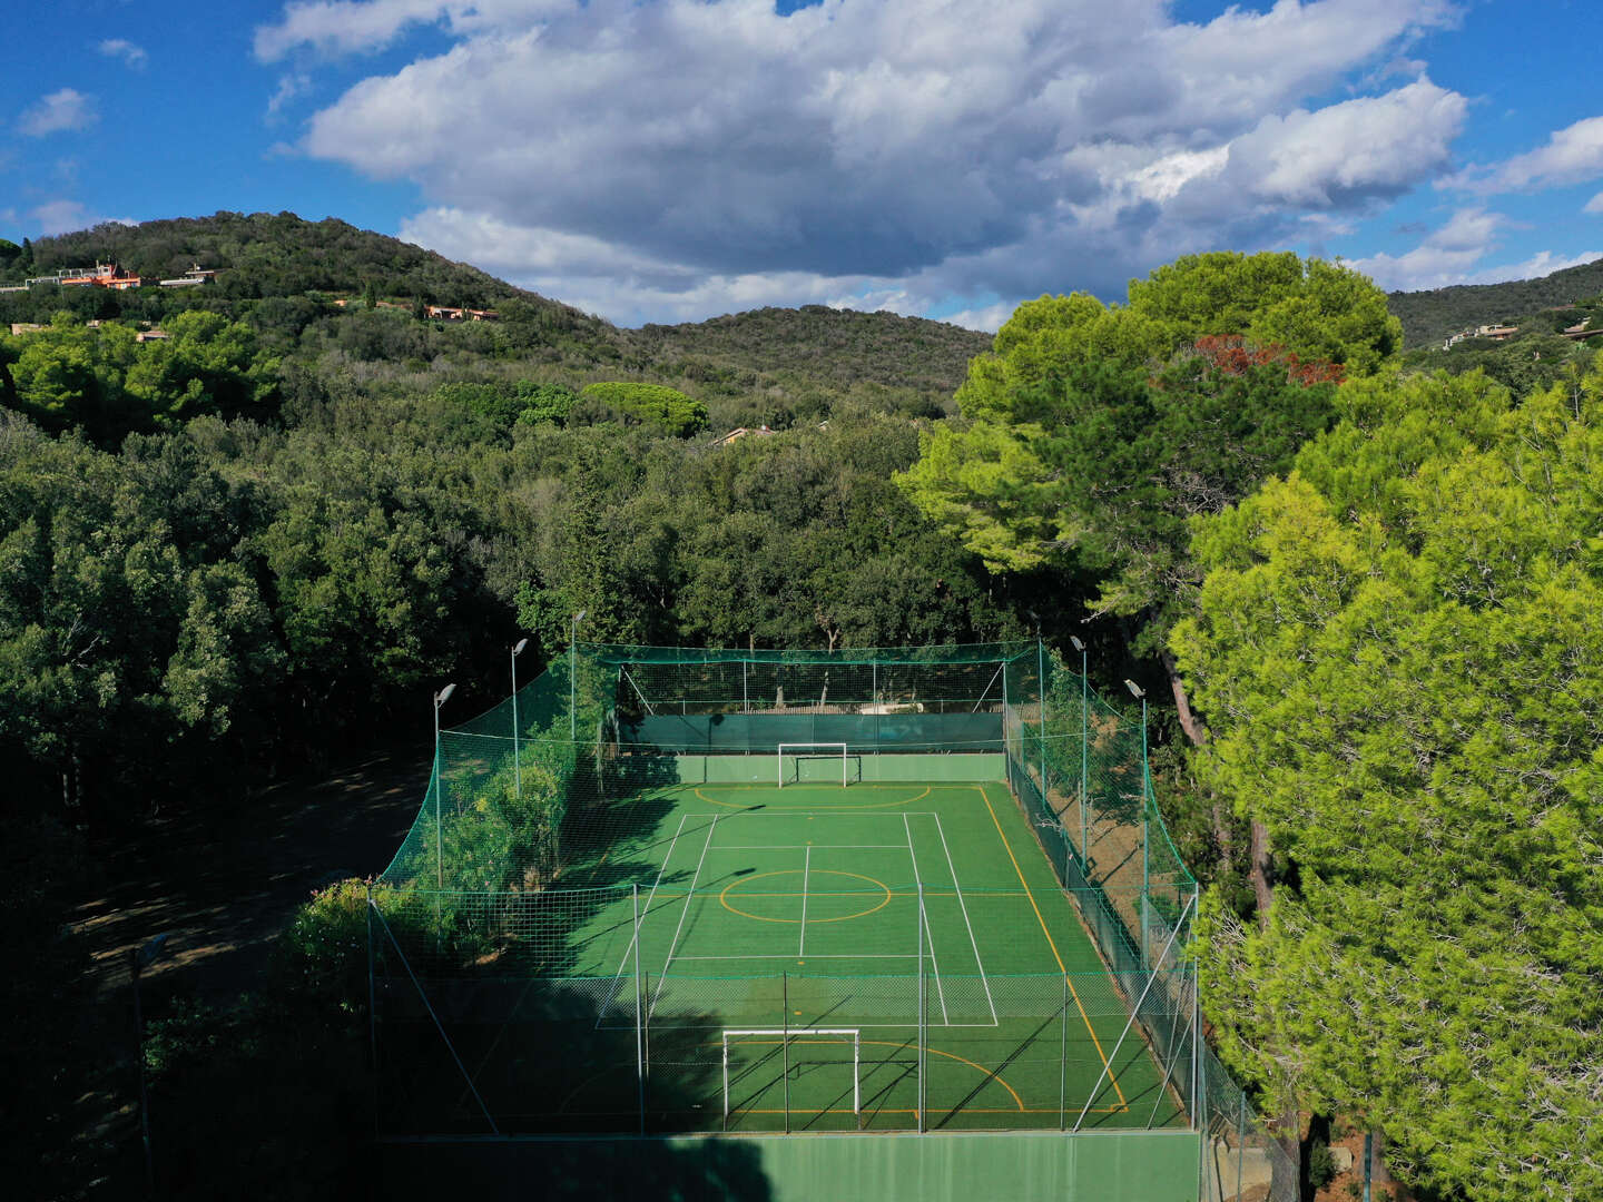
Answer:
<path fill-rule="evenodd" d="M 417 183 L 438 207 L 412 226 L 430 245 L 483 221 L 519 248 L 515 277 L 609 316 L 720 296 L 979 313 L 1326 236 L 1431 181 L 1462 96 L 1415 72 L 1314 101 L 1456 19 L 1446 0 L 1278 0 L 1205 24 L 1170 0 L 789 16 L 773 0 L 325 0 L 285 6 L 256 54 L 438 27 L 447 50 L 351 87 L 301 149 Z"/>

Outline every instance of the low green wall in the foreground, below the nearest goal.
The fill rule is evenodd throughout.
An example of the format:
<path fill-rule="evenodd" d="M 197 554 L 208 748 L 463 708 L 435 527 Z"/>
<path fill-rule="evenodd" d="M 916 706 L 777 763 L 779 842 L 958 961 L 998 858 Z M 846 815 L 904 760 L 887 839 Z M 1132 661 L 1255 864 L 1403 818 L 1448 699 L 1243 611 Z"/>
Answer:
<path fill-rule="evenodd" d="M 1196 1131 L 439 1139 L 380 1148 L 382 1196 L 657 1202 L 1197 1202 Z"/>

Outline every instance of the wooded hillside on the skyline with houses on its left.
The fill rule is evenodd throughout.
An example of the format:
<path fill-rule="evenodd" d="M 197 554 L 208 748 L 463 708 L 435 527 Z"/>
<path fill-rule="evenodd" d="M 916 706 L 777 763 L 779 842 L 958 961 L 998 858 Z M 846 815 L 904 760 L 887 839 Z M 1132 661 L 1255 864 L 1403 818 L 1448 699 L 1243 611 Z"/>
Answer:
<path fill-rule="evenodd" d="M 824 306 L 625 330 L 399 239 L 293 213 L 101 224 L 46 237 L 0 263 L 0 284 L 96 261 L 154 279 L 196 263 L 218 274 L 181 290 L 3 293 L 0 322 L 48 322 L 66 309 L 82 321 L 160 325 L 200 308 L 245 321 L 287 365 L 317 375 L 359 364 L 367 378 L 415 393 L 458 381 L 582 388 L 625 378 L 683 389 L 707 404 L 715 426 L 776 428 L 814 420 L 845 399 L 939 413 L 968 359 L 991 346 L 989 335 L 943 322 Z M 495 309 L 499 321 L 422 321 L 423 305 Z"/>

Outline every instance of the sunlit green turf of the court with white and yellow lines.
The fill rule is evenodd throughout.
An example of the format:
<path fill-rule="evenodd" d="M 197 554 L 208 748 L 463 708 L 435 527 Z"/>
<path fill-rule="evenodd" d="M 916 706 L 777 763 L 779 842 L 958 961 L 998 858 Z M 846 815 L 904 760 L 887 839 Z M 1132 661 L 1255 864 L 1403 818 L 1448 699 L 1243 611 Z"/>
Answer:
<path fill-rule="evenodd" d="M 668 808 L 596 867 L 656 872 L 574 931 L 569 971 L 609 981 L 598 1027 L 673 1032 L 667 1104 L 726 1130 L 1181 1120 L 1140 1034 L 1120 1045 L 1127 1003 L 1005 784 L 702 784 L 619 805 L 643 803 Z M 633 1069 L 571 1107 L 608 1106 L 612 1085 L 633 1104 Z"/>

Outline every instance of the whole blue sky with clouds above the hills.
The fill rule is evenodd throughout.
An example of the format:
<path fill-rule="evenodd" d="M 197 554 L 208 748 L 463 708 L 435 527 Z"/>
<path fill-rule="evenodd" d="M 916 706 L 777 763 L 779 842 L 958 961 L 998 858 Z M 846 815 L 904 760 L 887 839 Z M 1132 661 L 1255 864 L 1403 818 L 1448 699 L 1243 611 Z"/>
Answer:
<path fill-rule="evenodd" d="M 10 30 L 14 242 L 287 210 L 624 325 L 986 330 L 1204 250 L 1388 290 L 1603 255 L 1600 0 L 53 0 Z"/>

